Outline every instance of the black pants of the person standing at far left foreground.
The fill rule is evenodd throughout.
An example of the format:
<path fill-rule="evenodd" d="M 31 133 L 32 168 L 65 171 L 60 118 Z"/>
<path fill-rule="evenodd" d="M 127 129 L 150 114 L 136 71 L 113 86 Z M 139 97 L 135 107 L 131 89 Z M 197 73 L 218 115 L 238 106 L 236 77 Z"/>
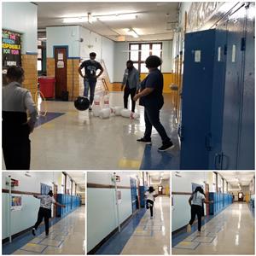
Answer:
<path fill-rule="evenodd" d="M 30 140 L 19 144 L 3 143 L 3 159 L 7 170 L 30 169 Z"/>

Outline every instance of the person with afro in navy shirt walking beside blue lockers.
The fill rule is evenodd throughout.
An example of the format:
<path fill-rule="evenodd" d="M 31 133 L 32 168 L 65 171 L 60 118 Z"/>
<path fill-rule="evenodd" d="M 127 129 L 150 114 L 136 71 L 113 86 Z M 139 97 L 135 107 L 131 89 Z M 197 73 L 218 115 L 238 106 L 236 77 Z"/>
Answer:
<path fill-rule="evenodd" d="M 146 130 L 144 137 L 138 139 L 139 143 L 151 144 L 152 126 L 158 131 L 162 139 L 162 146 L 158 148 L 159 151 L 166 151 L 173 148 L 174 145 L 171 139 L 167 136 L 166 130 L 160 123 L 160 109 L 164 105 L 163 86 L 164 79 L 163 74 L 158 67 L 162 64 L 160 57 L 156 55 L 150 55 L 145 61 L 146 67 L 148 67 L 148 76 L 141 83 L 141 90 L 134 96 L 134 101 L 140 99 L 140 105 L 144 107 L 144 119 Z"/>

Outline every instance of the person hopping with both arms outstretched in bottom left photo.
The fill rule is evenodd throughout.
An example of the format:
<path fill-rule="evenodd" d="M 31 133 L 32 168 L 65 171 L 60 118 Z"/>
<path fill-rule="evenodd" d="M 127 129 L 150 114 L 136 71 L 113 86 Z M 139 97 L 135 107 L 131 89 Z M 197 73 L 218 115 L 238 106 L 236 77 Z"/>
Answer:
<path fill-rule="evenodd" d="M 60 203 L 56 202 L 52 190 L 49 190 L 48 195 L 33 195 L 35 198 L 40 199 L 40 208 L 38 211 L 38 220 L 34 227 L 32 228 L 32 235 L 36 236 L 36 230 L 38 230 L 39 224 L 41 224 L 44 218 L 44 225 L 45 225 L 45 235 L 49 236 L 49 218 L 51 218 L 51 206 L 55 204 L 59 207 L 66 207 L 65 205 L 61 205 Z"/>

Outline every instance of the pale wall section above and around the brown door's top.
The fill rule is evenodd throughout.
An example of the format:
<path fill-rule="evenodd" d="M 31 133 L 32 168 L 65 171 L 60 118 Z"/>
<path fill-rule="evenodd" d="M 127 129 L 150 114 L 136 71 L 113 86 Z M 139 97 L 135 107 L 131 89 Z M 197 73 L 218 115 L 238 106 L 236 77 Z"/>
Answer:
<path fill-rule="evenodd" d="M 49 26 L 46 38 L 47 58 L 54 57 L 54 46 L 68 46 L 68 57 L 79 57 L 79 26 Z"/>

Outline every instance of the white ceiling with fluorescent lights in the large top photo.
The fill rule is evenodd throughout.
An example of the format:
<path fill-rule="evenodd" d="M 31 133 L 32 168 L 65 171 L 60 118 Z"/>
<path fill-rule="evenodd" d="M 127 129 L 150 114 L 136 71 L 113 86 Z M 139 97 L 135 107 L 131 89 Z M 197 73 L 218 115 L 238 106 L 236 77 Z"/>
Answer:
<path fill-rule="evenodd" d="M 133 38 L 125 35 L 125 41 L 170 40 L 177 27 L 177 11 L 179 3 L 84 3 L 84 2 L 37 2 L 38 29 L 47 26 L 63 26 L 63 18 L 82 17 L 90 13 L 92 16 L 137 14 L 136 20 L 99 21 L 71 23 L 80 25 L 113 41 L 125 35 L 124 28 L 132 28 L 139 35 Z M 41 36 L 44 36 L 41 34 Z"/>

